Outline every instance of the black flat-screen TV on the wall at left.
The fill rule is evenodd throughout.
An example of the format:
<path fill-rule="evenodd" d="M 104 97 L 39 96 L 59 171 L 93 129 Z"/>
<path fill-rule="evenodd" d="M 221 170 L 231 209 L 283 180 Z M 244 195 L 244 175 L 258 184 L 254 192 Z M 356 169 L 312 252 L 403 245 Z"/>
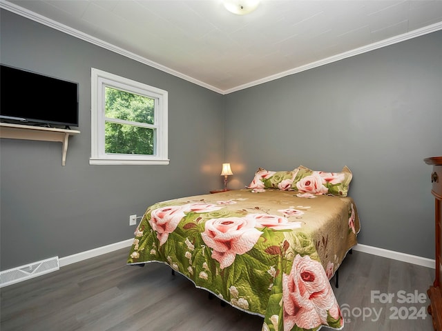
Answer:
<path fill-rule="evenodd" d="M 0 119 L 26 125 L 77 127 L 78 83 L 2 64 Z"/>

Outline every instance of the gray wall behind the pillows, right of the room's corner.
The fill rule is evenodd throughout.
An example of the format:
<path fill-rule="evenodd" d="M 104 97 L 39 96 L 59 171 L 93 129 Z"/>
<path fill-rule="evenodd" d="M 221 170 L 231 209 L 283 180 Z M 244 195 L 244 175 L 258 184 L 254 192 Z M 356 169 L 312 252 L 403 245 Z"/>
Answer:
<path fill-rule="evenodd" d="M 347 165 L 358 241 L 434 259 L 423 159 L 442 154 L 442 31 L 229 94 L 226 111 L 232 186 L 258 167 Z"/>

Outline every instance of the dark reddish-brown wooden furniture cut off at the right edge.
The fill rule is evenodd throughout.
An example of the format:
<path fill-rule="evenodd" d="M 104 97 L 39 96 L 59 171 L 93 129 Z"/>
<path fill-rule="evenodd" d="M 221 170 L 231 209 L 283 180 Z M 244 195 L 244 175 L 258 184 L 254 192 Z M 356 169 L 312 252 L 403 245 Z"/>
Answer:
<path fill-rule="evenodd" d="M 428 157 L 425 163 L 433 166 L 432 194 L 435 197 L 436 278 L 427 291 L 430 298 L 428 312 L 432 315 L 434 330 L 442 331 L 442 157 Z"/>

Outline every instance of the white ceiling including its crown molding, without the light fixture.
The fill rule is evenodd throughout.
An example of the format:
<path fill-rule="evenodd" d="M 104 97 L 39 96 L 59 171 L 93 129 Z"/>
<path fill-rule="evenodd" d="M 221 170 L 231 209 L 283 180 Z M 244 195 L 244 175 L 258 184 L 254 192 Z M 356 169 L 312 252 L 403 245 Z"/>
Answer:
<path fill-rule="evenodd" d="M 442 0 L 1 0 L 1 7 L 226 94 L 442 29 Z"/>

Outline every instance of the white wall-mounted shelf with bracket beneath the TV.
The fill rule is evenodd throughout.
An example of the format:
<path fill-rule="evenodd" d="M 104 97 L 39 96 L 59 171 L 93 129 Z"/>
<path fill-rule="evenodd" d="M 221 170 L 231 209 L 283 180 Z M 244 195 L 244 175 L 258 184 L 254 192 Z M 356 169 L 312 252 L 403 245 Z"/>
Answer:
<path fill-rule="evenodd" d="M 62 143 L 61 165 L 66 164 L 69 136 L 79 134 L 77 130 L 44 128 L 41 126 L 23 126 L 22 124 L 0 123 L 0 138 L 25 139 L 40 141 L 58 141 Z"/>

